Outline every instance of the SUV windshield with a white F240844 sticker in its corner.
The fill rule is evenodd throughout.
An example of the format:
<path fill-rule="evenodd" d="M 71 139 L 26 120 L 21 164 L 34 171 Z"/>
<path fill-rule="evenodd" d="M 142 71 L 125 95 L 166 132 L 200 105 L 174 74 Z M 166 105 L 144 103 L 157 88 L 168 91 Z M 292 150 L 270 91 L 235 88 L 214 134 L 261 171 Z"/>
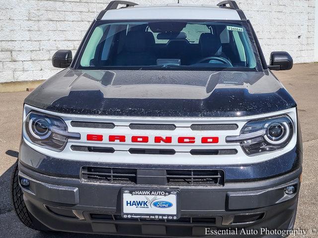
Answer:
<path fill-rule="evenodd" d="M 80 68 L 255 71 L 260 64 L 242 22 L 100 22 L 85 42 Z"/>

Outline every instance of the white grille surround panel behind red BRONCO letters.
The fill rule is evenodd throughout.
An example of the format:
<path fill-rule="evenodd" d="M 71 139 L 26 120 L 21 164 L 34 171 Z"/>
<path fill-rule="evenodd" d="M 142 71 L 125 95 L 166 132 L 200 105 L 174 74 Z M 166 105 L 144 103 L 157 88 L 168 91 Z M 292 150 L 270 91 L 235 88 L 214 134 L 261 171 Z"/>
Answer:
<path fill-rule="evenodd" d="M 78 132 L 81 135 L 80 140 L 69 139 L 66 147 L 61 152 L 56 152 L 36 144 L 33 144 L 28 138 L 24 122 L 30 111 L 42 112 L 48 115 L 62 118 L 69 132 Z M 239 113 L 238 113 L 239 115 Z M 283 149 L 255 155 L 247 156 L 241 149 L 239 143 L 226 143 L 227 136 L 239 135 L 244 124 L 253 119 L 269 118 L 279 115 L 288 115 L 294 124 L 294 132 L 289 144 Z M 93 122 L 111 122 L 115 124 L 114 128 L 86 128 L 73 127 L 71 121 L 93 121 Z M 139 130 L 131 129 L 131 123 L 149 123 L 149 124 L 174 124 L 175 130 Z M 237 124 L 236 130 L 192 130 L 192 124 Z M 102 134 L 104 141 L 87 141 L 87 134 Z M 126 142 L 109 142 L 109 135 L 125 135 Z M 149 136 L 148 143 L 133 143 L 131 137 L 134 135 Z M 172 143 L 154 143 L 155 136 L 171 136 Z M 193 144 L 179 144 L 177 138 L 179 136 L 194 136 L 196 138 Z M 217 144 L 202 144 L 201 137 L 218 136 Z M 41 154 L 65 160 L 74 161 L 90 161 L 101 163 L 116 164 L 152 164 L 152 165 L 239 165 L 253 164 L 271 160 L 291 151 L 297 142 L 297 113 L 296 108 L 284 111 L 261 114 L 248 117 L 228 117 L 228 118 L 160 118 L 160 117 L 111 117 L 111 116 L 95 116 L 95 115 L 71 115 L 62 114 L 43 109 L 38 109 L 29 105 L 24 105 L 23 110 L 23 140 L 32 149 Z M 112 147 L 114 153 L 99 153 L 74 151 L 71 146 L 93 146 L 93 147 Z M 173 149 L 175 154 L 131 154 L 129 149 Z M 206 149 L 236 149 L 237 154 L 232 155 L 192 155 L 191 150 Z"/>

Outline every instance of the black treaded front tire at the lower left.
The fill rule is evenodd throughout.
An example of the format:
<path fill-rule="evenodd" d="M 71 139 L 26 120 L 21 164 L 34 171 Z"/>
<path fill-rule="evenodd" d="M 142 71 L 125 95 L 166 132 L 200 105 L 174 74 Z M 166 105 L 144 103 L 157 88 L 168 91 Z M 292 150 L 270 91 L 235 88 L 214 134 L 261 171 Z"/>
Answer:
<path fill-rule="evenodd" d="M 11 177 L 11 201 L 15 211 L 15 214 L 19 220 L 28 228 L 36 231 L 50 232 L 51 230 L 40 223 L 32 214 L 28 211 L 23 200 L 23 192 L 19 185 L 18 178 L 18 161 L 13 165 Z"/>

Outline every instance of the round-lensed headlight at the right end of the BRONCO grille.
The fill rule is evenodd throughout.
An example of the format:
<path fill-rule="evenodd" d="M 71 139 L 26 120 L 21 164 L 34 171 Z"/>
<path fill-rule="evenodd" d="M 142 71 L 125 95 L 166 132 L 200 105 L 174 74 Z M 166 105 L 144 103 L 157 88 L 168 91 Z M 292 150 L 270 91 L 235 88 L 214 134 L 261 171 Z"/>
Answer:
<path fill-rule="evenodd" d="M 287 115 L 248 121 L 239 136 L 227 136 L 226 141 L 239 142 L 247 155 L 256 155 L 284 148 L 294 132 Z"/>

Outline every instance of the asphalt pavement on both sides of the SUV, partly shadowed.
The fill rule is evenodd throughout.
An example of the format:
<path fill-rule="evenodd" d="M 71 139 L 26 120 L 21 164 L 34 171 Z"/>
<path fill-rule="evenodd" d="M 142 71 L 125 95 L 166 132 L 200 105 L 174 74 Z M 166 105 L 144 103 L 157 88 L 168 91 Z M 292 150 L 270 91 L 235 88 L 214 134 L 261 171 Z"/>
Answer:
<path fill-rule="evenodd" d="M 295 229 L 318 230 L 318 64 L 296 64 L 292 70 L 274 73 L 298 103 L 303 134 L 304 171 Z M 10 177 L 21 137 L 23 99 L 28 93 L 0 93 L 0 238 L 110 238 L 40 233 L 26 228 L 12 211 Z M 318 233 L 306 237 L 317 238 Z"/>

